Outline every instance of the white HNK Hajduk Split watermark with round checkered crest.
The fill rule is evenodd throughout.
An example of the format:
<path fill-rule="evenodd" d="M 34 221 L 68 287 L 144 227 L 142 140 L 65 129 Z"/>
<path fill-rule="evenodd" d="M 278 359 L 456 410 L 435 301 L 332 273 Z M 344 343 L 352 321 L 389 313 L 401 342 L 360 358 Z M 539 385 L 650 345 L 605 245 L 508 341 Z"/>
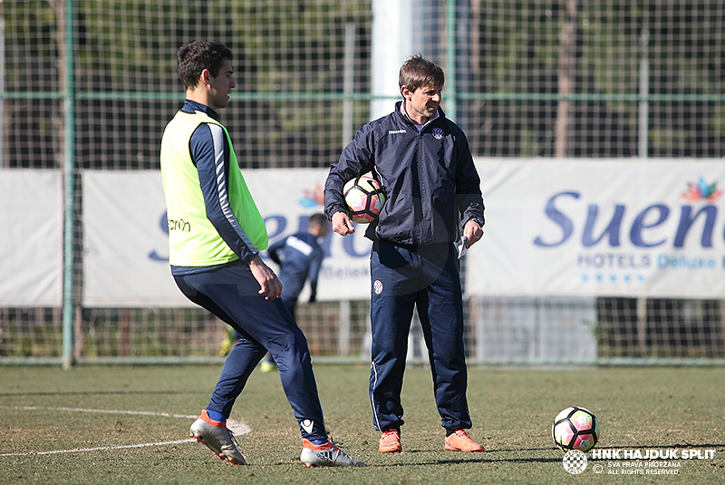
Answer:
<path fill-rule="evenodd" d="M 714 460 L 715 450 L 609 449 L 592 450 L 587 459 L 582 451 L 567 451 L 564 470 L 578 475 L 592 462 L 592 471 L 607 475 L 678 475 L 682 460 Z"/>

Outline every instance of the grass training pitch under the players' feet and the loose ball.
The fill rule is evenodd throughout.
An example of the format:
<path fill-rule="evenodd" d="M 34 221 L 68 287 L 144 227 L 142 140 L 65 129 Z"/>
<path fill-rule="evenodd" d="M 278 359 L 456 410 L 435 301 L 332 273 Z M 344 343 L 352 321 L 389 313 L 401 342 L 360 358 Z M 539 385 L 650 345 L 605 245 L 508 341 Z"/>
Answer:
<path fill-rule="evenodd" d="M 484 453 L 443 451 L 430 371 L 408 369 L 403 452 L 382 455 L 372 429 L 365 366 L 317 365 L 327 426 L 361 469 L 304 469 L 301 442 L 276 373 L 254 373 L 231 418 L 250 465 L 232 466 L 187 441 L 219 366 L 0 369 L 0 483 L 724 483 L 725 369 L 469 369 L 471 435 Z M 623 475 L 644 460 L 591 459 L 567 473 L 549 427 L 570 404 L 602 422 L 603 451 L 714 450 L 669 460 L 676 475 Z M 104 412 L 102 412 L 104 411 Z M 167 414 L 164 414 L 167 413 Z M 143 446 L 141 446 L 143 445 Z M 637 465 L 639 463 L 639 465 Z M 600 465 L 603 472 L 594 473 Z M 617 466 L 618 465 L 618 466 Z M 665 469 L 662 469 L 665 470 Z M 609 471 L 618 471 L 614 475 Z"/>

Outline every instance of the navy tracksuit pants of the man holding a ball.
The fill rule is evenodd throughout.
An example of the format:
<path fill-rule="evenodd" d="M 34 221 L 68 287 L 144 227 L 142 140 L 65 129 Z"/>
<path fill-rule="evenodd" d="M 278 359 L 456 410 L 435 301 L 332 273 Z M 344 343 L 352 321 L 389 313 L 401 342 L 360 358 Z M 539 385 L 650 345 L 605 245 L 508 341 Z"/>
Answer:
<path fill-rule="evenodd" d="M 403 424 L 402 378 L 414 308 L 428 346 L 441 424 L 447 430 L 469 429 L 463 301 L 455 247 L 375 241 L 370 269 L 370 399 L 375 429 L 386 431 Z"/>

